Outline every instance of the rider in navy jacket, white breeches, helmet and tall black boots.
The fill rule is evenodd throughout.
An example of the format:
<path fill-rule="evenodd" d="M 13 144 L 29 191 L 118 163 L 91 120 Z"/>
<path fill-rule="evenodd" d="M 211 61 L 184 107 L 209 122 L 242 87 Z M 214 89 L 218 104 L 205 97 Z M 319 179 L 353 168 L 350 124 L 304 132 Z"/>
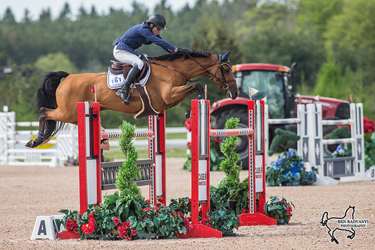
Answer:
<path fill-rule="evenodd" d="M 122 37 L 115 39 L 113 42 L 113 56 L 117 61 L 129 63 L 133 68 L 129 71 L 127 79 L 121 89 L 116 94 L 124 99 L 125 104 L 129 105 L 131 101 L 128 89 L 136 76 L 141 72 L 144 62 L 139 58 L 135 51 L 142 44 L 158 44 L 167 52 L 177 52 L 177 48 L 160 37 L 161 30 L 165 30 L 165 18 L 160 13 L 153 13 L 146 22 L 131 27 Z"/>

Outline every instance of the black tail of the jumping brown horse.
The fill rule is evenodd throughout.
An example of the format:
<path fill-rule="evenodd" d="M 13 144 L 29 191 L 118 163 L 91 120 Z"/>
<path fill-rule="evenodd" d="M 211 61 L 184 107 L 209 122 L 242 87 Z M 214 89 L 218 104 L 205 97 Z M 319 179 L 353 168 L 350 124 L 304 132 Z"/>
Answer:
<path fill-rule="evenodd" d="M 44 75 L 37 93 L 36 108 L 38 113 L 39 109 L 42 107 L 57 108 L 56 89 L 58 85 L 60 85 L 61 79 L 68 77 L 68 75 L 69 73 L 64 71 L 49 72 Z M 56 135 L 63 125 L 63 123 L 57 122 L 56 120 L 46 120 L 46 123 L 44 123 L 44 142 L 51 139 L 53 135 Z"/>

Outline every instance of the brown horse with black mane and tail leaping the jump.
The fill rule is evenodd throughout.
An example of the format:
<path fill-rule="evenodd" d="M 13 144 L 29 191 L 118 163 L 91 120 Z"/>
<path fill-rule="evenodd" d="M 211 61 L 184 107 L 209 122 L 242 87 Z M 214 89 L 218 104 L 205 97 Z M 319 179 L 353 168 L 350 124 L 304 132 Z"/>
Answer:
<path fill-rule="evenodd" d="M 160 112 L 176 106 L 188 96 L 197 93 L 203 96 L 203 87 L 191 81 L 203 75 L 210 79 L 227 97 L 236 99 L 238 87 L 229 63 L 230 51 L 226 54 L 212 54 L 209 51 L 179 49 L 177 52 L 149 58 L 151 73 L 146 82 L 148 98 L 154 111 Z M 65 78 L 61 82 L 61 80 Z M 191 84 L 187 84 L 191 82 Z M 96 96 L 91 89 L 96 85 Z M 136 89 L 132 104 L 125 105 L 117 96 L 117 89 L 107 85 L 107 74 L 69 74 L 63 71 L 44 75 L 37 90 L 36 109 L 39 111 L 37 136 L 25 146 L 34 148 L 45 144 L 56 135 L 65 123 L 77 125 L 77 102 L 100 102 L 101 111 L 113 110 L 136 114 L 142 109 L 142 101 Z M 97 98 L 97 99 L 96 99 Z"/>

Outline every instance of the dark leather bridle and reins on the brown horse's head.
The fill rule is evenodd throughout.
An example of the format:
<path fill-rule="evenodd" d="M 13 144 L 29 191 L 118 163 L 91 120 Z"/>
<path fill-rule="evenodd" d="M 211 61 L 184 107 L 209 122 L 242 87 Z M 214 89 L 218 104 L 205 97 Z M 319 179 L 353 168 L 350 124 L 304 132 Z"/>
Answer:
<path fill-rule="evenodd" d="M 175 69 L 175 68 L 171 68 L 167 65 L 163 65 L 163 64 L 160 64 L 160 63 L 156 63 L 154 61 L 149 61 L 150 63 L 153 63 L 155 65 L 159 65 L 161 67 L 164 67 L 164 68 L 169 68 L 170 70 L 174 70 L 174 71 L 177 71 L 178 73 L 180 73 L 186 80 L 186 82 L 198 82 L 198 81 L 202 81 L 202 80 L 206 80 L 206 79 L 210 79 L 210 80 L 214 80 L 216 79 L 218 82 L 220 82 L 222 85 L 220 86 L 221 89 L 225 90 L 225 91 L 228 91 L 228 89 L 230 89 L 230 85 L 229 83 L 230 82 L 235 82 L 236 80 L 235 79 L 232 79 L 232 80 L 226 80 L 225 79 L 225 75 L 224 75 L 224 69 L 223 69 L 223 66 L 224 65 L 227 65 L 230 70 L 231 70 L 231 65 L 229 63 L 229 61 L 221 61 L 221 55 L 220 54 L 217 54 L 217 58 L 219 59 L 219 66 L 217 67 L 215 73 L 212 73 L 210 70 L 208 70 L 208 68 L 205 68 L 205 66 L 203 66 L 201 63 L 199 63 L 198 61 L 196 61 L 195 58 L 193 58 L 193 56 L 189 55 L 188 56 L 191 58 L 191 60 L 193 60 L 194 62 L 196 62 L 198 65 L 200 65 L 209 75 L 206 75 L 205 77 L 203 78 L 199 78 L 197 80 L 189 80 L 188 77 L 186 77 L 186 75 L 184 73 L 182 73 L 181 71 Z M 217 77 L 217 71 L 220 69 L 220 73 L 222 74 L 222 77 Z"/>

